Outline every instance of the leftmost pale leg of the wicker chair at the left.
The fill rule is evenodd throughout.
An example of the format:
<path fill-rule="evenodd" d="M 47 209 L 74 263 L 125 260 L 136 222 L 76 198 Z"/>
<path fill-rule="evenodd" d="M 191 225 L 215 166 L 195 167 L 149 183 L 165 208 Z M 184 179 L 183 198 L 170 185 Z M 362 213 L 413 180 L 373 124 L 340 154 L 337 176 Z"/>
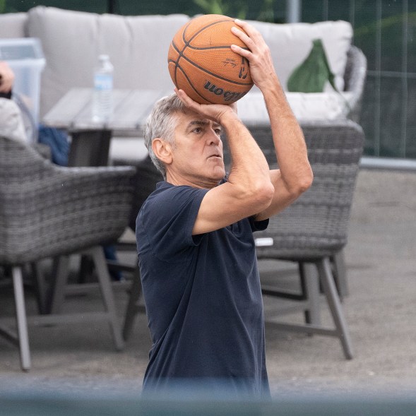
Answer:
<path fill-rule="evenodd" d="M 30 369 L 30 349 L 28 336 L 28 322 L 26 320 L 25 292 L 23 290 L 22 269 L 13 267 L 13 290 L 16 304 L 16 321 L 18 328 L 18 342 L 20 348 L 20 365 L 23 370 Z"/>

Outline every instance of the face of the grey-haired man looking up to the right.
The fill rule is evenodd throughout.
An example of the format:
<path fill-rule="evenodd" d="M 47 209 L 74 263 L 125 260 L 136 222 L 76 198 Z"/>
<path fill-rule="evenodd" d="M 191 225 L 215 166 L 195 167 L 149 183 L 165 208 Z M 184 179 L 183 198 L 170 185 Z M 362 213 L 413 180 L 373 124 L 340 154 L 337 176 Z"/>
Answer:
<path fill-rule="evenodd" d="M 220 124 L 194 112 L 178 113 L 168 180 L 211 188 L 225 176 Z"/>

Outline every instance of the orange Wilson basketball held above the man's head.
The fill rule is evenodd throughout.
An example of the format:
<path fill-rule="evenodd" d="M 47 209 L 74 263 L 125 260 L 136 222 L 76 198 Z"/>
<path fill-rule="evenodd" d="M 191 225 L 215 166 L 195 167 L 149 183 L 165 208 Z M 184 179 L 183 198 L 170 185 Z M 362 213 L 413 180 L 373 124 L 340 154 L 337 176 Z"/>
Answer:
<path fill-rule="evenodd" d="M 167 55 L 169 73 L 192 100 L 228 105 L 253 86 L 249 61 L 231 50 L 231 44 L 247 49 L 232 34 L 233 25 L 232 18 L 208 14 L 193 18 L 174 35 Z"/>

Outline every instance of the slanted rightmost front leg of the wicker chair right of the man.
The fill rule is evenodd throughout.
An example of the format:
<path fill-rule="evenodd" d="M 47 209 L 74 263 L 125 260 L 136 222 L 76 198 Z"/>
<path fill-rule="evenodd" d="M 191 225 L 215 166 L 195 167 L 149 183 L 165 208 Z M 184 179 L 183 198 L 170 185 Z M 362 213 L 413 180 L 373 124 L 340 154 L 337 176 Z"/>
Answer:
<path fill-rule="evenodd" d="M 350 334 L 343 314 L 343 309 L 341 307 L 340 298 L 338 297 L 338 291 L 333 280 L 329 258 L 323 258 L 318 261 L 316 266 L 319 270 L 323 291 L 325 292 L 328 306 L 331 309 L 331 314 L 336 328 L 335 331 L 343 347 L 345 358 L 352 359 L 353 353 Z"/>

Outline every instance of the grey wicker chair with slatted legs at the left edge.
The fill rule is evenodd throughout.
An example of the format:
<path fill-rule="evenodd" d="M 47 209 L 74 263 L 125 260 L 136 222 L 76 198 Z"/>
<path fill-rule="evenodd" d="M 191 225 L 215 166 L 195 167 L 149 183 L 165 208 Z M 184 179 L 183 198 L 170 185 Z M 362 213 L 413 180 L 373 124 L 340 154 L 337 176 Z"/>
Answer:
<path fill-rule="evenodd" d="M 30 369 L 28 321 L 51 324 L 104 319 L 117 349 L 124 346 L 101 244 L 117 241 L 128 225 L 134 172 L 131 167 L 58 167 L 30 145 L 0 136 L 0 265 L 12 271 L 18 330 L 16 336 L 2 325 L 0 335 L 19 345 L 23 369 Z M 95 261 L 105 311 L 26 317 L 23 266 L 81 252 Z M 66 284 L 64 263 L 55 279 L 58 291 Z"/>

